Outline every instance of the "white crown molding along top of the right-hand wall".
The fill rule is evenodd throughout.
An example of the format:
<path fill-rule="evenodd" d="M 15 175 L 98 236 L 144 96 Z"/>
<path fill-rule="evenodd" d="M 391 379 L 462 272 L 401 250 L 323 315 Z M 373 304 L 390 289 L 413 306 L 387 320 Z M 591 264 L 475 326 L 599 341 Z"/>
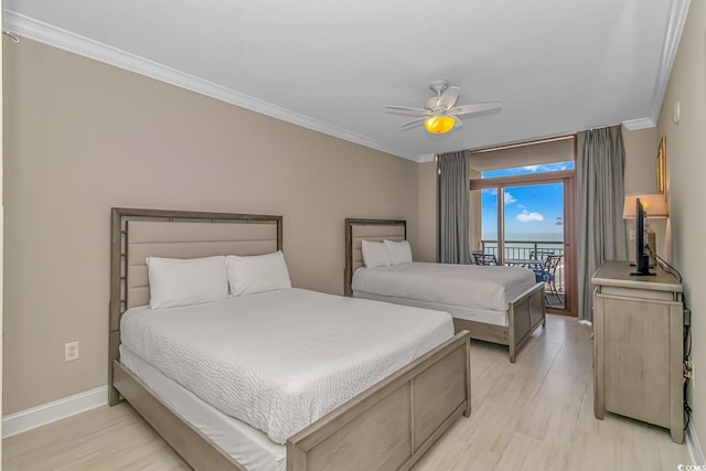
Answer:
<path fill-rule="evenodd" d="M 672 66 L 676 58 L 676 52 L 680 46 L 682 31 L 684 31 L 684 23 L 686 22 L 686 13 L 688 12 L 689 4 L 691 0 L 672 0 L 670 19 L 666 23 L 666 34 L 664 35 L 664 45 L 660 57 L 660 66 L 657 67 L 657 78 L 654 84 L 654 90 L 652 92 L 652 104 L 650 106 L 650 118 L 652 122 L 657 122 L 660 119 L 662 100 L 664 99 L 666 86 L 670 83 Z"/>

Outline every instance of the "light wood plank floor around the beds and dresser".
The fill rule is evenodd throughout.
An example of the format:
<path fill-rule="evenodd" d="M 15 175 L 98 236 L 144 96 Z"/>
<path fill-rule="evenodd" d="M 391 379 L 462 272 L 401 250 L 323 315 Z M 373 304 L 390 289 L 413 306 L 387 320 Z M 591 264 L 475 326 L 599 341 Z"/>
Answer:
<path fill-rule="evenodd" d="M 427 470 L 676 470 L 689 463 L 668 431 L 593 418 L 590 328 L 549 315 L 517 356 L 474 342 L 470 418 L 419 461 Z M 128 406 L 100 407 L 2 443 L 2 470 L 183 470 Z"/>

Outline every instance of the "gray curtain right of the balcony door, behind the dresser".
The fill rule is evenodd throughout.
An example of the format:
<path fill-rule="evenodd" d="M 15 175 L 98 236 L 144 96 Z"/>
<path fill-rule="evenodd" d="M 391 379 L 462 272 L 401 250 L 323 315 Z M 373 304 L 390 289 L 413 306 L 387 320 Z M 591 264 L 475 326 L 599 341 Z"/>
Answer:
<path fill-rule="evenodd" d="M 625 150 L 620 126 L 578 135 L 578 317 L 593 320 L 591 275 L 605 260 L 625 260 L 623 175 Z"/>

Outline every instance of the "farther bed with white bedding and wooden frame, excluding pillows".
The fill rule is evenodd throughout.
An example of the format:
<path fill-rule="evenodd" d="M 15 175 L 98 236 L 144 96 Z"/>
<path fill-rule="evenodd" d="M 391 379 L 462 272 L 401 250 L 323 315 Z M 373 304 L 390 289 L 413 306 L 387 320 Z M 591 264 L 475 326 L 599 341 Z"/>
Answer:
<path fill-rule="evenodd" d="M 507 345 L 514 363 L 520 346 L 546 322 L 544 283 L 517 267 L 426 263 L 365 267 L 363 240 L 402 242 L 406 235 L 405 221 L 345 221 L 346 296 L 447 311 L 457 331 Z"/>

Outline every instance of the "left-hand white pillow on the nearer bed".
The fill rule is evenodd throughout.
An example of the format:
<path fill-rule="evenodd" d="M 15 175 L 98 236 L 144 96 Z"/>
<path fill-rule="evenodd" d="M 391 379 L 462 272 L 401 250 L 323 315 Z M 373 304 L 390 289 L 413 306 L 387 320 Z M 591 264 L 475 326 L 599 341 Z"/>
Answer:
<path fill-rule="evenodd" d="M 147 257 L 150 308 L 200 304 L 228 297 L 225 257 Z"/>

